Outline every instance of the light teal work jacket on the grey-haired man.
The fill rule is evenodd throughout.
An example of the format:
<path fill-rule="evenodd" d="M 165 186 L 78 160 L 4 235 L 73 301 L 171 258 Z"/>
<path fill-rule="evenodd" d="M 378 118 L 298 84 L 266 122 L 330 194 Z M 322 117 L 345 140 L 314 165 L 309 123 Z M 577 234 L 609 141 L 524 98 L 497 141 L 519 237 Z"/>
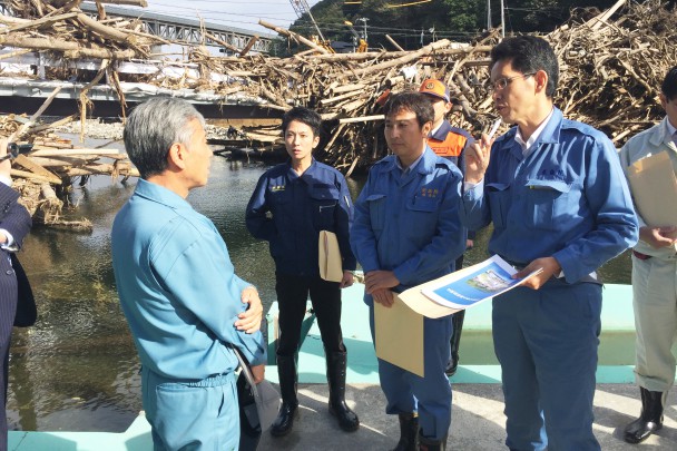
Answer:
<path fill-rule="evenodd" d="M 168 379 L 203 380 L 266 361 L 261 332 L 233 324 L 249 286 L 235 275 L 214 224 L 176 193 L 139 179 L 116 215 L 112 268 L 141 364 Z"/>

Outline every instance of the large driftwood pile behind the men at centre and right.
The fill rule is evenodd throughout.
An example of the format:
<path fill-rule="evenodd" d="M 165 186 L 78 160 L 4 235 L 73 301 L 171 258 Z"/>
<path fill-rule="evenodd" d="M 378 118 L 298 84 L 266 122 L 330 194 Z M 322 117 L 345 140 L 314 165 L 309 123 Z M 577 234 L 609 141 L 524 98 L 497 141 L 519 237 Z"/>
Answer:
<path fill-rule="evenodd" d="M 653 125 L 663 115 L 657 101 L 663 77 L 677 65 L 676 19 L 660 0 L 620 0 L 599 14 L 577 11 L 569 23 L 543 36 L 560 59 L 556 105 L 569 118 L 600 128 L 619 146 Z M 285 59 L 202 55 L 194 62 L 203 72 L 237 77 L 242 90 L 265 98 L 269 108 L 317 109 L 327 120 L 320 155 L 344 171 L 369 166 L 387 153 L 377 100 L 389 91 L 416 89 L 425 78 L 438 78 L 451 88 L 460 112 L 451 118 L 454 125 L 479 134 L 496 116 L 489 89 L 496 30 L 467 46 L 441 40 L 416 51 L 331 55 L 291 31 L 259 23 L 311 49 Z M 227 88 L 234 86 L 237 82 Z"/>

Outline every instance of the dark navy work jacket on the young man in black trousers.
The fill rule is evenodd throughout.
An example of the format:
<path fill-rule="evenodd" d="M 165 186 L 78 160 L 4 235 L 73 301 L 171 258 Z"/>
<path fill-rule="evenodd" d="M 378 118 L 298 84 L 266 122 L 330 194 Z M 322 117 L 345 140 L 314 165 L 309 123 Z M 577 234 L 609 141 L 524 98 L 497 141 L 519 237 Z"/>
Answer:
<path fill-rule="evenodd" d="M 343 258 L 343 269 L 354 271 L 349 232 L 353 203 L 345 177 L 315 161 L 301 175 L 290 161 L 268 169 L 247 205 L 249 233 L 268 242 L 277 274 L 320 275 L 321 231 L 334 232 Z"/>

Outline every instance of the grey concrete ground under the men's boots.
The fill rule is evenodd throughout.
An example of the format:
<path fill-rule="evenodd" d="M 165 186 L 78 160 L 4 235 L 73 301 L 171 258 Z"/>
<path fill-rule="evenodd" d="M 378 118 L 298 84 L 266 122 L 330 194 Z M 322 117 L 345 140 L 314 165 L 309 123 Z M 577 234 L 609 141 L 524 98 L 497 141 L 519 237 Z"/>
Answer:
<path fill-rule="evenodd" d="M 302 384 L 300 421 L 290 435 L 262 438 L 259 450 L 391 450 L 400 437 L 395 416 L 384 413 L 385 399 L 377 385 L 353 384 L 346 399 L 360 415 L 361 428 L 345 433 L 326 403 L 324 384 Z M 622 441 L 625 424 L 640 410 L 639 392 L 631 384 L 599 384 L 595 398 L 595 434 L 607 451 L 677 450 L 677 395 L 673 394 L 665 410 L 665 425 L 640 445 Z M 453 384 L 453 411 L 448 450 L 507 450 L 503 393 L 499 384 Z"/>

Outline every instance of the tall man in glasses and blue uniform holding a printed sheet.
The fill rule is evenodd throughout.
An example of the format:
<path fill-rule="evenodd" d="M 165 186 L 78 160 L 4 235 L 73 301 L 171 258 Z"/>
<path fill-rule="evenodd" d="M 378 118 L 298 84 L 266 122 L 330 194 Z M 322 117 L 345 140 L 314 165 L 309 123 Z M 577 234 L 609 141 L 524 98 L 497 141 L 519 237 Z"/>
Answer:
<path fill-rule="evenodd" d="M 489 253 L 524 276 L 493 300 L 511 450 L 599 450 L 592 399 L 601 329 L 595 271 L 637 242 L 637 218 L 611 141 L 553 107 L 557 57 L 521 36 L 491 51 L 498 114 L 514 124 L 465 156 L 461 218 L 493 223 Z"/>

